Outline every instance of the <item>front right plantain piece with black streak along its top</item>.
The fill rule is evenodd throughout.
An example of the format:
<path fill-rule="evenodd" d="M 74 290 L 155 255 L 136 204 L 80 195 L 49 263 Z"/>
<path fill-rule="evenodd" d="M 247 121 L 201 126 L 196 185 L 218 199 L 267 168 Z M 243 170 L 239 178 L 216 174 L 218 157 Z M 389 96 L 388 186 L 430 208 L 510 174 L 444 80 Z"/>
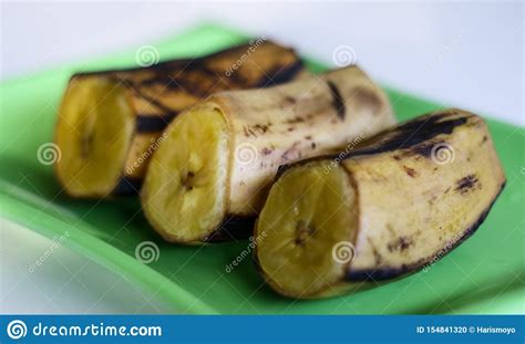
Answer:
<path fill-rule="evenodd" d="M 472 236 L 504 185 L 482 118 L 422 116 L 356 150 L 282 167 L 257 221 L 256 261 L 291 298 L 370 288 Z"/>

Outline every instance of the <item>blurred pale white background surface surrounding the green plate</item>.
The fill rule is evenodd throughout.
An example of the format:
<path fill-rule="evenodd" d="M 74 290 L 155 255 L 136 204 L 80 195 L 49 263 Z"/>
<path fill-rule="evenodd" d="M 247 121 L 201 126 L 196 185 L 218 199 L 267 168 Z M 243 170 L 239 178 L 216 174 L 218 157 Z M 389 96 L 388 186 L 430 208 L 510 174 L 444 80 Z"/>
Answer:
<path fill-rule="evenodd" d="M 2 2 L 1 77 L 138 46 L 203 20 L 277 39 L 333 64 L 340 45 L 378 81 L 524 125 L 524 6 L 461 2 Z M 1 114 L 0 114 L 1 115 Z M 0 306 L 13 312 L 173 312 L 65 248 L 0 222 Z M 73 277 L 74 275 L 74 277 Z"/>

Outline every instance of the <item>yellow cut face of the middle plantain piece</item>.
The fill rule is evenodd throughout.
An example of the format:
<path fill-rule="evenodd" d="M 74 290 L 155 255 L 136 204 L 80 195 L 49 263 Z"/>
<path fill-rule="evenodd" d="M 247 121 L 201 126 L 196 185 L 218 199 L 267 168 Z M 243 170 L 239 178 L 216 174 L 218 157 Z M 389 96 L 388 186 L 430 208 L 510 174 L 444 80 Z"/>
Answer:
<path fill-rule="evenodd" d="M 204 241 L 226 212 L 228 126 L 213 105 L 179 115 L 152 157 L 142 189 L 146 217 L 168 241 Z"/>

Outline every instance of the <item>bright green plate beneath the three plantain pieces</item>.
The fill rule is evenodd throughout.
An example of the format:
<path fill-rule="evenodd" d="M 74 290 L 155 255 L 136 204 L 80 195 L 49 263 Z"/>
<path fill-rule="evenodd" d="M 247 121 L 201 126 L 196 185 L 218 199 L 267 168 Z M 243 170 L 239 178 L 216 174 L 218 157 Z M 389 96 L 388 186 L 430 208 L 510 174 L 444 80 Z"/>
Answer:
<path fill-rule="evenodd" d="M 153 44 L 161 59 L 205 54 L 246 37 L 204 24 Z M 66 198 L 38 150 L 53 140 L 56 106 L 69 76 L 79 70 L 135 64 L 130 50 L 106 59 L 38 73 L 1 84 L 0 215 L 60 242 L 166 300 L 185 313 L 523 313 L 524 305 L 524 129 L 488 119 L 507 186 L 475 236 L 426 271 L 353 295 L 296 301 L 275 294 L 254 269 L 250 256 L 227 272 L 247 241 L 178 247 L 150 228 L 136 199 L 101 201 Z M 325 66 L 308 62 L 321 71 Z M 373 71 L 371 71 L 373 72 Z M 389 90 L 400 121 L 442 107 Z M 461 106 L 461 104 L 454 104 Z M 142 263 L 135 250 L 158 247 L 157 260 Z M 244 253 L 246 254 L 246 253 Z M 130 302 L 133 302 L 132 300 Z"/>

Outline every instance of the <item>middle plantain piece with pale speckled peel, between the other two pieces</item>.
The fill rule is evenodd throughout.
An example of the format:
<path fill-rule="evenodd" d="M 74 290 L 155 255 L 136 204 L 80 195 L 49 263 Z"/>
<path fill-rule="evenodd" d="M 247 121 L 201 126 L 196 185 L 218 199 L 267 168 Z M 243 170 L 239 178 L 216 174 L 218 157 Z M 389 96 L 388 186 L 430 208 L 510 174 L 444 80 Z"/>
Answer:
<path fill-rule="evenodd" d="M 215 94 L 166 129 L 143 209 L 168 241 L 246 238 L 279 165 L 337 152 L 394 123 L 387 95 L 357 66 Z"/>

